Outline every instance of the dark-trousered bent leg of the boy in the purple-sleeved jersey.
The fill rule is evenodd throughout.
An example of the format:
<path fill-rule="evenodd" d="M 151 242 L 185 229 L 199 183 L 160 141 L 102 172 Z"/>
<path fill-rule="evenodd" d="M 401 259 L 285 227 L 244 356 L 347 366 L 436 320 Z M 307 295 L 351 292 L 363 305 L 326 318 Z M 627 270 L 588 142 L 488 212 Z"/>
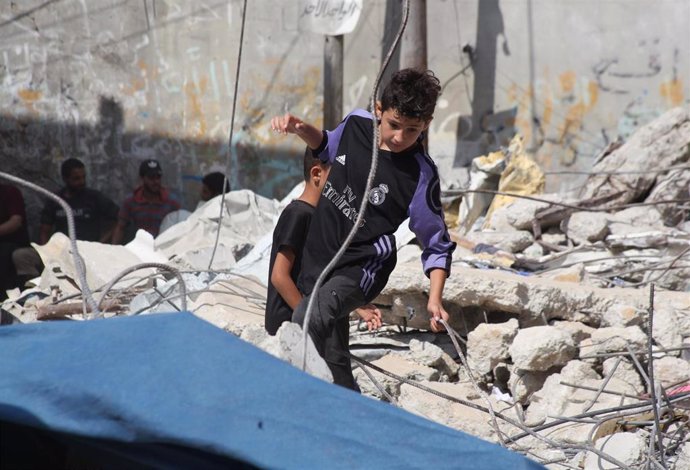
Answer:
<path fill-rule="evenodd" d="M 335 275 L 316 292 L 309 319 L 309 336 L 316 350 L 326 360 L 334 382 L 355 389 L 349 356 L 349 314 L 365 304 L 359 281 Z M 309 298 L 305 297 L 292 315 L 292 321 L 303 325 Z"/>

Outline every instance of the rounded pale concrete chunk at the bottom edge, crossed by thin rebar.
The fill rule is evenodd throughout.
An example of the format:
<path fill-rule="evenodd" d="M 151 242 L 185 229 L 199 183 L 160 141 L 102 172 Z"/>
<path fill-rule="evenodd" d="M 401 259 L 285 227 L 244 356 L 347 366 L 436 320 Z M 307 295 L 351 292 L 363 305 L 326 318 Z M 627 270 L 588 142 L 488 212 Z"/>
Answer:
<path fill-rule="evenodd" d="M 647 455 L 647 439 L 641 434 L 633 432 L 618 432 L 610 436 L 597 439 L 594 446 L 610 455 L 626 466 L 637 466 L 645 461 Z M 585 458 L 585 470 L 608 470 L 621 468 L 608 460 L 601 458 L 594 452 L 588 452 Z"/>

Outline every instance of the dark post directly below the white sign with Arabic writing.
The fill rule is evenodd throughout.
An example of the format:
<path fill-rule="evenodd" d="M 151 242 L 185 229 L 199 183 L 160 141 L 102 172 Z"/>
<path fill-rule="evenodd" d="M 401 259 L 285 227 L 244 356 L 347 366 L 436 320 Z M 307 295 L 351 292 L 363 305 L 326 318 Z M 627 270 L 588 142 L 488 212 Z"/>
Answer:
<path fill-rule="evenodd" d="M 343 120 L 343 38 L 326 36 L 323 63 L 323 128 L 335 129 Z"/>

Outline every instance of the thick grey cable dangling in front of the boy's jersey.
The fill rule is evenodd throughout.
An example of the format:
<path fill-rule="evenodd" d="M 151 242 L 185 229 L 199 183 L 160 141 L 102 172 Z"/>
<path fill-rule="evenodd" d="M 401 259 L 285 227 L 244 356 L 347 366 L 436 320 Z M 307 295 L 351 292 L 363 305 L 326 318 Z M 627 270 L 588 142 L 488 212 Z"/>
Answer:
<path fill-rule="evenodd" d="M 319 275 L 318 279 L 316 279 L 314 288 L 312 289 L 311 295 L 309 296 L 307 311 L 304 315 L 304 322 L 302 323 L 302 339 L 304 343 L 302 349 L 302 370 L 306 370 L 307 366 L 307 339 L 309 338 L 309 320 L 311 319 L 311 312 L 314 308 L 314 299 L 316 298 L 316 293 L 321 288 L 321 285 L 323 284 L 323 281 L 326 278 L 326 276 L 330 274 L 331 270 L 333 270 L 333 267 L 335 267 L 338 261 L 340 261 L 340 258 L 345 253 L 345 250 L 347 250 L 347 248 L 350 246 L 350 243 L 355 238 L 359 225 L 362 223 L 362 219 L 364 218 L 364 211 L 367 209 L 367 205 L 369 203 L 369 198 L 367 197 L 367 194 L 369 194 L 369 191 L 371 190 L 371 187 L 374 184 L 374 177 L 376 176 L 376 168 L 378 166 L 379 158 L 379 126 L 374 111 L 376 109 L 376 95 L 378 94 L 381 77 L 383 76 L 383 73 L 386 71 L 386 67 L 388 67 L 388 63 L 390 62 L 391 57 L 393 57 L 393 53 L 395 52 L 395 48 L 398 46 L 398 43 L 400 42 L 400 38 L 402 37 L 403 32 L 405 32 L 405 27 L 407 26 L 407 18 L 409 17 L 409 13 L 410 2 L 409 0 L 405 0 L 405 5 L 403 6 L 403 19 L 400 23 L 400 29 L 398 30 L 398 34 L 395 36 L 395 40 L 393 41 L 393 44 L 391 44 L 391 47 L 388 50 L 388 54 L 386 55 L 386 58 L 384 59 L 383 64 L 381 65 L 381 70 L 379 70 L 379 74 L 376 77 L 376 81 L 374 82 L 374 89 L 372 90 L 371 96 L 369 98 L 372 113 L 371 122 L 373 128 L 373 140 L 371 146 L 371 168 L 369 169 L 369 176 L 367 178 L 367 184 L 364 188 L 364 196 L 362 197 L 362 204 L 359 207 L 357 219 L 355 220 L 355 224 L 350 230 L 350 233 L 347 235 L 347 238 L 345 238 L 345 241 L 343 242 L 338 252 L 335 254 L 335 256 L 333 256 L 333 259 L 330 263 L 328 263 L 328 265 L 323 269 L 323 271 L 321 271 L 321 274 Z"/>

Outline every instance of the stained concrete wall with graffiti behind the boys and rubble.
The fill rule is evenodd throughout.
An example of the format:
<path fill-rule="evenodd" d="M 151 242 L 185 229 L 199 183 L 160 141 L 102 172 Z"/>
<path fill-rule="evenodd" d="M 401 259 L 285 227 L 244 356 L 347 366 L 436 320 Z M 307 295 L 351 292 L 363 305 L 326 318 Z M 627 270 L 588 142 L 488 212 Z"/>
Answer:
<path fill-rule="evenodd" d="M 0 5 L 3 169 L 54 189 L 59 163 L 76 156 L 87 164 L 90 184 L 120 201 L 137 182 L 138 162 L 156 157 L 165 182 L 192 207 L 199 178 L 227 159 L 241 3 Z M 345 40 L 344 109 L 366 105 L 401 4 L 364 2 Z M 618 135 L 690 102 L 685 1 L 427 6 L 428 63 L 444 87 L 431 153 L 446 184 L 463 180 L 451 170 L 506 143 L 515 130 L 544 167 L 588 169 Z M 321 122 L 323 40 L 296 30 L 299 14 L 298 2 L 249 2 L 232 143 L 235 188 L 284 196 L 300 178 L 300 145 L 269 133 L 269 119 L 290 110 Z M 466 44 L 471 49 L 463 50 Z M 547 181 L 551 190 L 572 184 Z"/>

